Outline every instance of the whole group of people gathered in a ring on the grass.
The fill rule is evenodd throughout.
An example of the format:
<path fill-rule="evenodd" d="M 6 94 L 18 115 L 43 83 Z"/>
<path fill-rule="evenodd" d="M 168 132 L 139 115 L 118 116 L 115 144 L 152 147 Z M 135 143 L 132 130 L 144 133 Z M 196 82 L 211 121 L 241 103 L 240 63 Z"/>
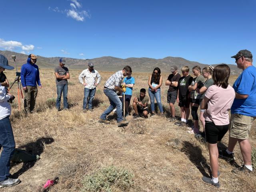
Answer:
<path fill-rule="evenodd" d="M 252 53 L 248 50 L 240 50 L 235 56 L 238 68 L 243 72 L 234 82 L 233 87 L 228 84 L 230 68 L 226 64 L 208 66 L 202 69 L 200 66 L 194 66 L 192 73 L 194 78 L 189 75 L 189 67 L 181 68 L 182 76 L 178 73 L 178 67 L 172 66 L 171 72 L 165 85 L 169 86 L 167 93 L 167 103 L 170 105 L 171 122 L 177 126 L 186 126 L 188 132 L 198 136 L 199 119 L 202 123 L 202 130 L 208 143 L 210 154 L 210 166 L 212 177 L 203 177 L 206 183 L 220 187 L 218 182 L 218 158 L 235 160 L 234 147 L 238 142 L 243 156 L 244 164 L 240 168 L 232 170 L 233 173 L 252 172 L 251 146 L 249 142 L 250 128 L 256 118 L 256 68 L 252 65 Z M 34 112 L 34 106 L 37 96 L 37 85 L 41 88 L 39 69 L 36 63 L 36 56 L 30 54 L 27 63 L 21 68 L 21 83 L 25 94 L 24 109 L 25 112 Z M 56 108 L 60 109 L 60 99 L 63 95 L 64 109 L 68 109 L 68 79 L 70 78 L 68 68 L 64 65 L 66 60 L 60 58 L 59 65 L 54 69 L 57 86 Z M 15 142 L 10 124 L 11 108 L 8 101 L 14 96 L 8 93 L 4 86 L 9 86 L 6 76 L 2 73 L 5 69 L 11 70 L 8 60 L 0 55 L 0 149 L 4 150 L 0 156 L 0 187 L 13 186 L 20 182 L 19 179 L 10 178 L 10 158 L 14 153 Z M 110 106 L 100 115 L 98 122 L 110 124 L 107 116 L 116 109 L 118 126 L 128 125 L 125 116 L 129 114 L 129 105 L 132 98 L 132 89 L 135 79 L 132 75 L 132 68 L 125 66 L 123 70 L 114 73 L 104 84 L 103 92 L 110 101 Z M 125 77 L 125 78 L 124 78 Z M 83 70 L 78 77 L 79 82 L 84 86 L 83 110 L 93 110 L 93 98 L 96 92 L 96 86 L 101 81 L 101 76 L 97 70 L 94 70 L 94 64 L 89 62 L 88 68 Z M 162 76 L 160 68 L 156 67 L 148 78 L 148 94 L 146 89 L 141 88 L 140 93 L 134 96 L 133 109 L 134 118 L 148 117 L 156 115 L 154 100 L 158 104 L 160 115 L 163 115 L 161 103 Z M 117 93 L 118 92 L 118 93 Z M 118 94 L 121 94 L 120 98 Z M 151 112 L 148 109 L 150 100 Z M 180 106 L 181 118 L 179 121 L 175 116 L 175 102 Z M 124 106 L 123 104 L 124 103 Z M 87 107 L 88 106 L 88 107 Z M 200 115 L 198 116 L 198 108 Z M 122 116 L 125 108 L 125 116 Z M 231 118 L 229 119 L 229 111 Z M 194 120 L 192 127 L 188 127 L 188 116 L 191 115 Z M 222 140 L 229 130 L 229 143 L 226 150 L 218 151 L 217 143 Z"/>

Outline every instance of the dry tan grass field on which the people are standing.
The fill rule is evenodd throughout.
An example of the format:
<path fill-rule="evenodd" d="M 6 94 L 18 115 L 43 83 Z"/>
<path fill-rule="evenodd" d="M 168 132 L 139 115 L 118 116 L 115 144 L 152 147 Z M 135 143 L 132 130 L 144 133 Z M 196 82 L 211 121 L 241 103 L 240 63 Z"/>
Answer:
<path fill-rule="evenodd" d="M 12 163 L 11 174 L 19 177 L 22 182 L 11 188 L 0 188 L 0 192 L 41 192 L 48 179 L 57 177 L 58 181 L 48 191 L 82 191 L 84 177 L 107 166 L 124 168 L 134 176 L 132 186 L 123 189 L 116 184 L 112 186 L 112 192 L 256 191 L 255 172 L 250 175 L 231 173 L 234 167 L 242 164 L 238 145 L 234 151 L 235 162 L 219 160 L 220 188 L 216 189 L 202 181 L 202 176 L 210 173 L 208 149 L 205 144 L 188 134 L 186 128 L 179 128 L 168 121 L 168 87 L 164 85 L 167 73 L 162 74 L 161 88 L 166 115 L 135 120 L 129 116 L 127 120 L 130 124 L 119 128 L 116 120 L 110 125 L 98 123 L 100 114 L 109 105 L 108 98 L 103 93 L 104 82 L 113 72 L 100 72 L 102 82 L 96 90 L 94 111 L 83 113 L 84 88 L 78 82 L 81 71 L 70 70 L 70 110 L 58 112 L 52 107 L 52 101 L 56 98 L 54 70 L 44 68 L 40 69 L 42 89 L 38 89 L 37 112 L 25 116 L 18 111 L 17 101 L 12 104 L 11 122 L 16 148 L 25 149 L 30 154 L 39 154 L 40 160 Z M 5 73 L 12 82 L 15 71 Z M 140 88 L 148 89 L 149 75 L 136 72 L 132 74 L 136 80 L 134 94 Z M 235 79 L 236 77 L 230 77 L 230 84 Z M 15 84 L 10 91 L 14 96 L 16 88 Z M 176 109 L 179 116 L 178 106 Z M 250 139 L 253 147 L 256 147 L 255 137 L 254 122 Z M 227 146 L 228 134 L 222 142 Z"/>

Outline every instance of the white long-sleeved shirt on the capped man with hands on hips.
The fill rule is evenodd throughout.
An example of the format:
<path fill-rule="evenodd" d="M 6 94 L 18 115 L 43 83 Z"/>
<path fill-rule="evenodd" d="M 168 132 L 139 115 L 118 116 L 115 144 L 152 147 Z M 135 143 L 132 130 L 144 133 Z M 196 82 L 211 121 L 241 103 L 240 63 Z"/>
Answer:
<path fill-rule="evenodd" d="M 84 81 L 83 81 L 83 78 L 84 78 Z M 87 83 L 87 85 L 84 86 L 84 88 L 88 88 L 88 89 L 94 89 L 96 87 L 94 86 L 94 84 L 96 83 L 95 81 L 96 78 L 97 78 L 97 84 L 99 84 L 101 80 L 101 76 L 98 73 L 98 71 L 92 70 L 92 72 L 90 72 L 88 68 L 86 70 L 83 70 L 78 77 L 80 83 L 82 84 L 84 84 L 84 82 Z"/>

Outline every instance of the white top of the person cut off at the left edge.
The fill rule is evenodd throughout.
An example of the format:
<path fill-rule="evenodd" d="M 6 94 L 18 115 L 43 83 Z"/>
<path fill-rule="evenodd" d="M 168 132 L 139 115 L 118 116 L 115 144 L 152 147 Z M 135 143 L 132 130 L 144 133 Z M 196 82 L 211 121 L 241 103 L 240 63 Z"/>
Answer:
<path fill-rule="evenodd" d="M 11 106 L 7 102 L 10 99 L 9 95 L 6 95 L 5 88 L 0 83 L 0 120 L 11 114 Z"/>

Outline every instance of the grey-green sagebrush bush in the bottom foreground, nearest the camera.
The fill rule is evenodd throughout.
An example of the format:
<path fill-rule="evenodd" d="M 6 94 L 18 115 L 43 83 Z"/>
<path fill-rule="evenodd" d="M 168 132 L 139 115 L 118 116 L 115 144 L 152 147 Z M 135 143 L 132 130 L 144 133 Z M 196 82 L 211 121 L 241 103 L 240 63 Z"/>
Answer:
<path fill-rule="evenodd" d="M 114 188 L 128 190 L 133 184 L 133 174 L 115 166 L 104 167 L 82 180 L 82 192 L 112 192 Z"/>

